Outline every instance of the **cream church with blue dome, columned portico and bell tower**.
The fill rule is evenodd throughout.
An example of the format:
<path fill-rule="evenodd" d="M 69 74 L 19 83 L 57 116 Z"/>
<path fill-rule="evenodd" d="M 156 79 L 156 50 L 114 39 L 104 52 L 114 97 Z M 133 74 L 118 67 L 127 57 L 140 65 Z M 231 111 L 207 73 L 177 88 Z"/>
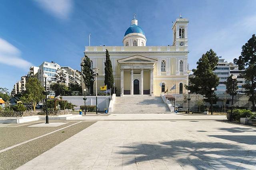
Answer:
<path fill-rule="evenodd" d="M 123 46 L 86 46 L 93 68 L 98 70 L 98 92 L 104 86 L 106 49 L 110 54 L 116 95 L 160 96 L 176 85 L 176 94 L 186 93 L 188 84 L 188 20 L 178 18 L 172 25 L 173 45 L 146 46 L 146 34 L 134 17 L 122 40 Z M 82 59 L 83 61 L 83 59 Z M 85 88 L 83 84 L 83 89 Z M 94 94 L 96 85 L 94 83 Z"/>

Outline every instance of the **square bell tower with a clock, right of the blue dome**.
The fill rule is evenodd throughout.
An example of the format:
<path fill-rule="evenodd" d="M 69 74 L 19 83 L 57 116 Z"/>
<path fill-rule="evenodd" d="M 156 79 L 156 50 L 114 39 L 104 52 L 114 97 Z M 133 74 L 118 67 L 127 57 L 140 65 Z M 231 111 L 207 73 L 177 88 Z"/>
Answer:
<path fill-rule="evenodd" d="M 184 47 L 184 50 L 188 47 L 188 19 L 180 18 L 176 19 L 172 25 L 173 31 L 173 46 Z M 179 50 L 179 48 L 176 48 Z"/>

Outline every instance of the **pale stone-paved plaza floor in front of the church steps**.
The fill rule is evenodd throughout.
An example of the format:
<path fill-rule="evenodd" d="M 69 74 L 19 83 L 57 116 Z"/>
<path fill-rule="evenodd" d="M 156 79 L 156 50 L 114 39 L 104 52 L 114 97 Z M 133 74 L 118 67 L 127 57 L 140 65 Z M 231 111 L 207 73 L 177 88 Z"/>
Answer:
<path fill-rule="evenodd" d="M 211 120 L 223 116 L 153 115 L 97 117 L 101 121 L 18 169 L 256 170 L 255 128 Z"/>

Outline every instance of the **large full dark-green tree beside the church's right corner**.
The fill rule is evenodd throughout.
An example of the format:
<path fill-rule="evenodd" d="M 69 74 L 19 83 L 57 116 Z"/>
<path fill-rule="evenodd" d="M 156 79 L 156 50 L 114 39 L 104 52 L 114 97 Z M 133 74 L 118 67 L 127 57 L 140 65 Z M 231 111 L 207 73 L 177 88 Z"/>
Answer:
<path fill-rule="evenodd" d="M 212 49 L 207 51 L 198 60 L 196 69 L 193 69 L 194 76 L 189 78 L 190 85 L 186 86 L 192 93 L 201 94 L 206 99 L 206 102 L 211 103 L 216 101 L 216 94 L 212 92 L 212 88 L 216 90 L 219 84 L 219 78 L 214 74 L 216 65 L 218 63 L 218 56 Z"/>

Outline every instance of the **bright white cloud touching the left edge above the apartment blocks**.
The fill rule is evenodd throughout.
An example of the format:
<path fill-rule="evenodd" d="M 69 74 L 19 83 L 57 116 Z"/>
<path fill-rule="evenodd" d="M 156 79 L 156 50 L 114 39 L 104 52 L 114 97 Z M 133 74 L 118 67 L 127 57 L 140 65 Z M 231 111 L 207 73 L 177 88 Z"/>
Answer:
<path fill-rule="evenodd" d="M 20 58 L 20 50 L 0 38 L 0 63 L 28 70 L 32 64 Z"/>

